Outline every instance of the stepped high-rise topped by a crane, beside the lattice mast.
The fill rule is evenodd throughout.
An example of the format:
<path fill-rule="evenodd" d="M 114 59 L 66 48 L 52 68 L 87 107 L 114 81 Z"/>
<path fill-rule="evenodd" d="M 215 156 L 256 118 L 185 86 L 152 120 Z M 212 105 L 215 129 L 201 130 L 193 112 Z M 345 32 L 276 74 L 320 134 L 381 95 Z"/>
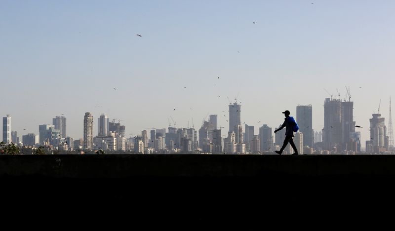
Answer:
<path fill-rule="evenodd" d="M 381 114 L 372 114 L 370 121 L 370 139 L 373 141 L 373 148 L 375 152 L 379 152 L 378 149 L 385 148 L 386 138 L 386 125 L 385 119 L 381 117 Z"/>

